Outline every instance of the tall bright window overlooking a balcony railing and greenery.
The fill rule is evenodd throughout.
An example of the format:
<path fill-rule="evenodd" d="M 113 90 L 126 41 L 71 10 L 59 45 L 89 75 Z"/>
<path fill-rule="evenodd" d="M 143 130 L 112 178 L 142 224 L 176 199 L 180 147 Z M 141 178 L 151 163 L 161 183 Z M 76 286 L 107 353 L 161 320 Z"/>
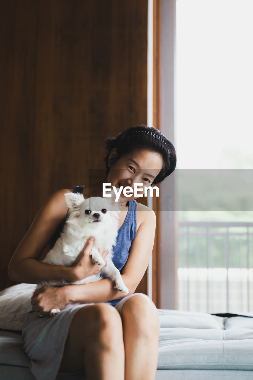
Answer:
<path fill-rule="evenodd" d="M 178 308 L 253 311 L 253 1 L 177 0 Z"/>

